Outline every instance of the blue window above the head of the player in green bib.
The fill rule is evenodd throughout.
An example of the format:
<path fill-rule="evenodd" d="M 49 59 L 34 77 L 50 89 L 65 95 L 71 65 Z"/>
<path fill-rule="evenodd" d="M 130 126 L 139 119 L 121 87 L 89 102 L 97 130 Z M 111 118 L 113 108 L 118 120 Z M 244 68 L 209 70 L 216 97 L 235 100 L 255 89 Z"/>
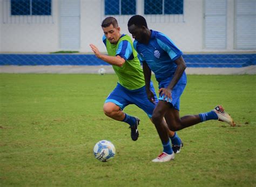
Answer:
<path fill-rule="evenodd" d="M 105 0 L 105 15 L 136 15 L 136 0 Z"/>

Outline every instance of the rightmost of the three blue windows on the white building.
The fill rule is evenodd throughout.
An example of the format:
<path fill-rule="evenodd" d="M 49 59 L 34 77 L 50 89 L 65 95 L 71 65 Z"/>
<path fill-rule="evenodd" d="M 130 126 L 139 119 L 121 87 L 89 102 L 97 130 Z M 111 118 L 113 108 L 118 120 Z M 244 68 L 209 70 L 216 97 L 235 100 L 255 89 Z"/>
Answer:
<path fill-rule="evenodd" d="M 183 0 L 144 0 L 145 15 L 182 15 Z"/>

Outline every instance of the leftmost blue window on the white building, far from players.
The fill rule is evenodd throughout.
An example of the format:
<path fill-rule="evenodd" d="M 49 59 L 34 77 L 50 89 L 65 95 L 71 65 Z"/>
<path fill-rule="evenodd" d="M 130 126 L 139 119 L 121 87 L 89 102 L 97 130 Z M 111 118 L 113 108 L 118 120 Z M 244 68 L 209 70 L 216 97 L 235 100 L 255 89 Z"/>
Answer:
<path fill-rule="evenodd" d="M 51 0 L 11 0 L 11 15 L 51 15 Z"/>

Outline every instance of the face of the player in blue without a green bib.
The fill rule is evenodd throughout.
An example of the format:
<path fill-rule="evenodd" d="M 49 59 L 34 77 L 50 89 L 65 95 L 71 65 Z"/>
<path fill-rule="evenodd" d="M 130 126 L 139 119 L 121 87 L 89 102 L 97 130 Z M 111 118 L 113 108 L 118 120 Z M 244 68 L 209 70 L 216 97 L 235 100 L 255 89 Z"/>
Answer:
<path fill-rule="evenodd" d="M 138 27 L 136 25 L 131 25 L 128 27 L 129 32 L 132 34 L 132 38 L 136 39 L 138 42 L 147 44 L 148 37 L 146 32 L 146 27 Z"/>

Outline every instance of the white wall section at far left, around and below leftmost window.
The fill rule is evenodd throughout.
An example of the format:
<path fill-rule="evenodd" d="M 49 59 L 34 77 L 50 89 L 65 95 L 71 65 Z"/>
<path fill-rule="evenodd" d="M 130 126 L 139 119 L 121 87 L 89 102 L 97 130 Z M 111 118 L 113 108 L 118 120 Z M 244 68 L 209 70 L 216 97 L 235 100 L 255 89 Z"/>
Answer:
<path fill-rule="evenodd" d="M 3 1 L 3 0 L 2 0 Z M 1 3 L 1 8 L 3 3 Z M 6 10 L 5 10 L 6 11 Z M 52 20 L 28 17 L 1 19 L 2 52 L 54 52 L 58 50 L 58 0 L 52 0 Z M 1 13 L 2 14 L 2 13 Z M 38 17 L 35 19 L 39 19 Z M 41 22 L 41 23 L 40 23 Z"/>

